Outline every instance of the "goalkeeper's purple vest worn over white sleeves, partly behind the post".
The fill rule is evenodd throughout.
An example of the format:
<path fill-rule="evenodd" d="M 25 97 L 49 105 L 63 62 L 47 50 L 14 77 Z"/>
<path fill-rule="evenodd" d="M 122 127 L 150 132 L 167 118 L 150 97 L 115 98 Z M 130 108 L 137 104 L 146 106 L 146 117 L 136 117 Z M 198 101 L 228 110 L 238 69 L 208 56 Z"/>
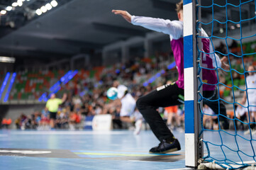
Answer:
<path fill-rule="evenodd" d="M 210 41 L 206 38 L 202 38 L 203 49 L 204 52 L 209 53 L 209 45 Z M 171 47 L 174 55 L 174 60 L 176 62 L 176 67 L 179 73 L 178 80 L 176 84 L 179 88 L 184 89 L 184 42 L 183 38 L 179 38 L 178 40 L 171 41 Z M 186 57 L 186 56 L 185 56 Z M 202 67 L 206 67 L 208 69 L 203 69 L 203 90 L 204 91 L 213 91 L 216 85 L 208 85 L 208 84 L 216 84 L 217 77 L 215 70 L 213 69 L 213 61 L 209 55 L 204 54 L 202 59 Z M 211 69 L 211 70 L 210 70 Z"/>

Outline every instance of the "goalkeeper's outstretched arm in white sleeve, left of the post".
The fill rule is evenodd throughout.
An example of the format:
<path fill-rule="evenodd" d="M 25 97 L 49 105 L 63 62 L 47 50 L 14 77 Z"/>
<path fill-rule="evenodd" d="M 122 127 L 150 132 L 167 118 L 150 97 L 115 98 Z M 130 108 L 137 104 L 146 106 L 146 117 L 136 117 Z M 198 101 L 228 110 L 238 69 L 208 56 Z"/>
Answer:
<path fill-rule="evenodd" d="M 171 35 L 175 40 L 183 35 L 183 23 L 181 21 L 169 21 L 161 18 L 151 18 L 145 16 L 131 16 L 127 11 L 112 10 L 113 13 L 123 16 L 129 23 L 135 26 L 142 26 L 149 30 Z"/>

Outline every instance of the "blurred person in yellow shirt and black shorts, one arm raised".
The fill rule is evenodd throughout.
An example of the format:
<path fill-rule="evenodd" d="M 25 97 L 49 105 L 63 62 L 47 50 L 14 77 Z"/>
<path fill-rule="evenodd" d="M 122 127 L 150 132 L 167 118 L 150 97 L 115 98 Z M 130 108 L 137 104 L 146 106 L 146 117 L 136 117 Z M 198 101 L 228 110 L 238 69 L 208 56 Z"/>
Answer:
<path fill-rule="evenodd" d="M 55 128 L 55 120 L 59 106 L 67 99 L 67 94 L 63 94 L 62 99 L 56 98 L 55 94 L 51 94 L 50 99 L 47 101 L 45 110 L 50 112 L 50 127 Z"/>

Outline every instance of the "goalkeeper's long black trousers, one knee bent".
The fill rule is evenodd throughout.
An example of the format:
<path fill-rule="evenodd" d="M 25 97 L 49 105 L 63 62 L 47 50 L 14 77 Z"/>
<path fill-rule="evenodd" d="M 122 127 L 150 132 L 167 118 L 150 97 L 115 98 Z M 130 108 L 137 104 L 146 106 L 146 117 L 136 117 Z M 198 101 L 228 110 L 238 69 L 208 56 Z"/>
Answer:
<path fill-rule="evenodd" d="M 216 91 L 204 91 L 204 97 L 211 98 L 213 100 L 218 97 Z M 164 120 L 157 112 L 159 107 L 176 106 L 182 104 L 181 98 L 184 96 L 184 89 L 180 89 L 177 84 L 160 86 L 149 94 L 138 98 L 136 103 L 138 110 L 143 115 L 147 123 L 150 125 L 152 132 L 155 134 L 158 140 L 166 140 L 174 135 L 167 128 Z M 210 102 L 204 100 L 204 102 L 216 113 L 218 113 L 218 101 Z M 226 107 L 220 102 L 221 111 L 226 115 Z M 225 113 L 224 113 L 225 112 Z"/>

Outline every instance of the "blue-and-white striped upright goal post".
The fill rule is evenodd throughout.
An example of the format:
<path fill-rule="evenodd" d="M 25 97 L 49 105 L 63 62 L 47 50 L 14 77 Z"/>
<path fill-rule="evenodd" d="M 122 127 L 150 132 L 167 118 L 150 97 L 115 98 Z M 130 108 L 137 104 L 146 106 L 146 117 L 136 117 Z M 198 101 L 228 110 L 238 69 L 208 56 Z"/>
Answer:
<path fill-rule="evenodd" d="M 184 16 L 184 106 L 185 164 L 196 167 L 199 159 L 199 117 L 196 103 L 196 13 L 195 0 L 183 1 Z"/>

